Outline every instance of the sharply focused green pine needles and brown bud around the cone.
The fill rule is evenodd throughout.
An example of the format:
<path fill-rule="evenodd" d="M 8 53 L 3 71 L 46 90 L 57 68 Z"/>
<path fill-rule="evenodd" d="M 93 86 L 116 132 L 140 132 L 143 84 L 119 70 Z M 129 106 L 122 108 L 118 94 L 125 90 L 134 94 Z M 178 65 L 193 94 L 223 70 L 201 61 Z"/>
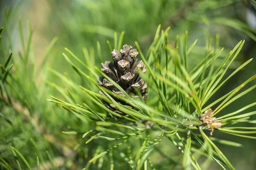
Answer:
<path fill-rule="evenodd" d="M 148 69 L 147 72 L 143 72 L 141 69 L 137 70 L 140 73 L 140 77 L 148 83 L 148 95 L 151 98 L 146 102 L 144 102 L 142 96 L 139 100 L 132 98 L 113 78 L 108 77 L 103 69 L 100 70 L 97 67 L 89 68 L 75 54 L 66 49 L 67 54 L 63 54 L 65 59 L 78 74 L 83 76 L 82 79 L 88 84 L 84 86 L 75 85 L 71 79 L 67 79 L 66 77 L 60 78 L 66 83 L 73 84 L 73 93 L 83 94 L 84 99 L 81 99 L 81 102 L 79 102 L 79 100 L 74 101 L 71 96 L 66 96 L 64 100 L 52 96 L 52 99 L 49 99 L 49 101 L 63 105 L 67 111 L 77 114 L 81 119 L 94 122 L 95 128 L 84 133 L 82 137 L 87 140 L 86 144 L 93 141 L 99 142 L 98 146 L 100 149 L 99 151 L 96 150 L 96 153 L 90 158 L 85 169 L 89 168 L 90 164 L 96 162 L 98 159 L 101 160 L 99 164 L 102 164 L 102 156 L 109 155 L 110 152 L 123 155 L 124 161 L 125 159 L 128 160 L 132 169 L 140 170 L 142 167 L 146 168 L 147 166 L 153 166 L 152 168 L 154 168 L 154 165 L 149 163 L 151 161 L 148 156 L 161 143 L 163 138 L 168 139 L 170 144 L 174 144 L 180 150 L 181 154 L 183 154 L 182 166 L 184 169 L 190 169 L 191 167 L 201 169 L 200 164 L 198 164 L 198 161 L 191 152 L 192 148 L 193 150 L 201 150 L 202 153 L 200 154 L 202 156 L 215 161 L 222 169 L 234 169 L 227 157 L 212 142 L 211 135 L 214 136 L 212 132 L 216 130 L 235 136 L 255 138 L 254 136 L 250 136 L 250 134 L 255 133 L 250 127 L 244 127 L 244 129 L 249 129 L 249 131 L 233 130 L 243 129 L 242 127 L 235 127 L 237 122 L 255 122 L 255 120 L 250 120 L 250 116 L 256 114 L 255 111 L 240 114 L 241 111 L 252 107 L 254 103 L 244 106 L 236 112 L 227 113 L 225 116 L 217 116 L 230 103 L 249 93 L 256 87 L 253 85 L 239 93 L 241 88 L 244 88 L 248 82 L 255 78 L 255 75 L 221 98 L 206 105 L 207 101 L 214 96 L 216 91 L 228 79 L 252 60 L 248 60 L 226 79 L 222 79 L 231 63 L 241 51 L 244 41 L 241 40 L 226 55 L 218 67 L 214 67 L 213 63 L 223 49 L 210 52 L 195 68 L 189 71 L 187 70 L 187 57 L 189 57 L 189 52 L 197 40 L 191 46 L 187 47 L 188 33 L 186 32 L 180 38 L 176 39 L 175 47 L 172 47 L 168 43 L 168 31 L 169 28 L 162 30 L 160 34 L 160 26 L 158 27 L 154 42 L 152 42 L 145 57 L 140 50 L 140 45 L 138 42 L 135 42 L 145 68 Z M 118 43 L 121 44 L 121 42 Z M 218 36 L 215 44 L 216 50 L 218 49 Z M 90 77 L 81 71 L 79 66 L 75 65 L 68 56 L 80 62 L 81 65 L 84 65 L 94 77 Z M 98 85 L 96 82 L 98 74 L 113 84 L 123 95 L 117 95 L 114 91 L 109 90 L 107 86 L 105 88 Z M 102 94 L 91 90 L 93 88 L 92 86 L 99 88 Z M 239 94 L 236 95 L 237 93 Z M 126 104 L 118 102 L 119 100 Z M 125 113 L 126 116 L 112 111 L 104 105 L 104 102 L 113 105 L 121 113 Z M 218 107 L 212 110 L 212 106 L 215 104 L 218 104 Z M 131 105 L 136 109 L 132 109 L 127 105 Z M 95 108 L 98 109 L 96 110 Z M 112 118 L 107 119 L 108 117 Z M 122 119 L 116 119 L 116 117 Z M 142 120 L 146 123 L 141 123 Z M 229 125 L 232 126 L 227 127 Z M 208 131 L 211 131 L 211 135 L 207 135 Z M 158 136 L 152 136 L 152 132 L 158 133 Z M 79 132 L 72 131 L 65 133 Z M 181 137 L 184 134 L 186 134 L 186 137 Z M 138 139 L 140 139 L 140 144 L 135 145 L 134 142 Z M 108 141 L 109 145 L 103 147 L 100 144 L 102 140 Z M 193 144 L 192 141 L 194 141 Z M 229 143 L 230 141 L 226 142 Z M 230 144 L 239 145 L 235 142 L 230 142 Z M 128 156 L 127 148 L 122 147 L 122 145 L 133 147 L 132 151 L 129 152 L 134 156 Z M 108 166 L 111 166 L 111 164 Z M 179 165 L 176 164 L 174 166 Z"/>

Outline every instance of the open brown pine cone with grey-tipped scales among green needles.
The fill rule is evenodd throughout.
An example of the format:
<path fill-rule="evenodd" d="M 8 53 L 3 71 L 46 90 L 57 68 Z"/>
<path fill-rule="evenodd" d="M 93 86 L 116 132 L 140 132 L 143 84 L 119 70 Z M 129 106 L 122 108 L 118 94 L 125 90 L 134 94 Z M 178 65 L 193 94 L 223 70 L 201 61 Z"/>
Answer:
<path fill-rule="evenodd" d="M 120 85 L 125 90 L 125 92 L 134 99 L 140 99 L 139 96 L 135 95 L 136 89 L 138 89 L 145 101 L 147 96 L 146 88 L 148 86 L 144 80 L 140 78 L 137 70 L 141 70 L 143 73 L 145 73 L 146 68 L 142 60 L 137 61 L 137 55 L 139 54 L 137 50 L 131 48 L 131 45 L 125 44 L 123 45 L 123 48 L 120 49 L 120 51 L 116 51 L 114 49 L 111 52 L 113 62 L 106 61 L 104 64 L 102 63 L 101 71 L 110 77 L 113 81 L 115 81 L 118 85 Z M 98 77 L 97 82 L 99 85 L 113 91 L 113 93 L 120 96 L 125 96 L 121 91 L 118 90 L 118 88 L 116 88 L 103 76 Z M 102 91 L 100 91 L 100 93 L 103 94 Z M 115 100 L 123 105 L 127 105 L 130 108 L 133 108 L 126 102 L 123 102 L 117 98 L 115 98 Z M 114 105 L 108 103 L 105 103 L 105 105 L 112 111 L 123 114 L 121 111 L 116 110 Z"/>

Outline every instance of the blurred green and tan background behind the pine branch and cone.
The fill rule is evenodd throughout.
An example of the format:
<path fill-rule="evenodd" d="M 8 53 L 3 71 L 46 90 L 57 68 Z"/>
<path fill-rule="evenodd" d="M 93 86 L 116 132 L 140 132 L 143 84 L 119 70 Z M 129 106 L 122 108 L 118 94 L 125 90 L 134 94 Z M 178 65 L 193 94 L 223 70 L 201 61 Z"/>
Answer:
<path fill-rule="evenodd" d="M 33 60 L 31 59 L 31 65 L 26 67 L 27 69 L 35 67 L 36 76 L 24 81 L 28 84 L 29 81 L 35 81 L 36 88 L 32 85 L 25 85 L 23 90 L 26 91 L 25 103 L 31 106 L 30 109 L 33 112 L 36 112 L 35 120 L 41 122 L 41 127 L 38 130 L 39 133 L 35 133 L 33 127 L 30 127 L 31 124 L 24 124 L 18 119 L 22 119 L 22 116 L 10 115 L 15 118 L 17 128 L 8 131 L 0 124 L 0 134 L 2 134 L 0 135 L 2 140 L 0 154 L 4 158 L 13 156 L 11 152 L 6 151 L 6 138 L 12 139 L 16 148 L 32 164 L 36 164 L 35 157 L 31 156 L 33 155 L 31 152 L 35 149 L 28 149 L 28 147 L 33 147 L 29 138 L 38 139 L 39 150 L 49 150 L 54 158 L 59 159 L 59 164 L 66 164 L 70 169 L 76 169 L 73 159 L 69 161 L 67 157 L 76 155 L 73 147 L 79 144 L 81 139 L 76 140 L 76 137 L 67 139 L 72 137 L 61 134 L 61 131 L 77 126 L 80 129 L 84 128 L 84 131 L 89 129 L 88 125 L 78 125 L 63 110 L 46 101 L 49 95 L 61 96 L 61 94 L 45 80 L 64 87 L 63 82 L 49 71 L 51 68 L 60 73 L 67 72 L 75 82 L 81 82 L 80 77 L 75 74 L 62 56 L 65 47 L 81 59 L 84 59 L 83 49 L 86 48 L 90 57 L 95 58 L 93 64 L 99 67 L 97 41 L 101 44 L 104 60 L 110 59 L 106 41 L 109 40 L 113 44 L 114 32 L 120 35 L 122 31 L 125 31 L 124 44 L 134 46 L 134 41 L 137 40 L 142 49 L 146 51 L 154 39 L 157 26 L 161 24 L 162 29 L 171 27 L 169 31 L 171 45 L 176 35 L 184 34 L 186 30 L 189 33 L 188 44 L 198 39 L 197 45 L 189 55 L 189 68 L 195 66 L 204 57 L 209 38 L 214 38 L 216 34 L 220 35 L 219 46 L 224 47 L 219 62 L 240 40 L 245 40 L 241 53 L 231 65 L 228 73 L 232 73 L 241 63 L 256 56 L 256 5 L 250 0 L 0 0 L 0 27 L 3 26 L 6 30 L 3 33 L 6 35 L 3 36 L 3 40 L 8 40 L 9 44 L 6 46 L 12 48 L 16 64 L 21 62 L 18 51 L 22 50 L 18 29 L 19 20 L 23 25 L 25 41 L 29 37 L 27 28 L 29 25 L 33 28 L 31 46 Z M 47 54 L 46 50 L 51 42 L 55 42 L 55 45 L 50 54 Z M 211 50 L 213 49 L 214 45 Z M 46 67 L 41 69 L 42 63 L 45 63 Z M 212 101 L 240 85 L 253 74 L 256 74 L 255 59 L 230 79 Z M 255 83 L 256 81 L 253 81 L 250 85 Z M 236 111 L 241 106 L 252 102 L 256 102 L 255 90 L 246 97 L 233 102 L 221 113 Z M 255 111 L 255 109 L 256 107 L 252 107 L 250 111 Z M 26 113 L 26 111 L 23 112 Z M 7 133 L 10 133 L 9 136 Z M 253 139 L 218 132 L 214 135 L 243 144 L 243 147 L 217 144 L 236 169 L 256 169 L 256 144 Z M 165 142 L 161 148 L 167 153 L 177 153 L 177 150 L 168 144 L 165 145 Z M 153 154 L 151 157 L 154 158 L 155 163 L 163 159 L 163 156 L 159 154 Z M 164 169 L 168 169 L 168 165 L 165 166 Z M 211 169 L 217 170 L 218 168 L 215 164 L 211 166 Z"/>

